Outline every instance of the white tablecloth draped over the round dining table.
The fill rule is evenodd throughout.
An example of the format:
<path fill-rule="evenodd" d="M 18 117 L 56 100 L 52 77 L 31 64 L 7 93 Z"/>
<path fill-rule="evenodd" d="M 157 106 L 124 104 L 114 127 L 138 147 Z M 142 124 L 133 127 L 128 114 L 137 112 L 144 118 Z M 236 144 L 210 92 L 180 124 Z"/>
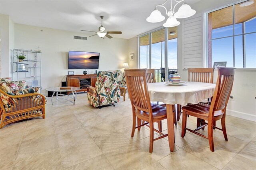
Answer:
<path fill-rule="evenodd" d="M 164 82 L 148 83 L 151 101 L 161 101 L 169 105 L 199 103 L 214 95 L 215 84 L 186 82 L 181 86 L 170 86 Z"/>

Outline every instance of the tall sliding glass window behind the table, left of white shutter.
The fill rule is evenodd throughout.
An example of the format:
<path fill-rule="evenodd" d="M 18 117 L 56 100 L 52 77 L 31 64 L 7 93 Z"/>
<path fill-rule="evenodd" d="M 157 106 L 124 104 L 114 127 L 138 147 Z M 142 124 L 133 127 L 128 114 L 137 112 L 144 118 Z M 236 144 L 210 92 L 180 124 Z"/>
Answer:
<path fill-rule="evenodd" d="M 167 32 L 168 40 L 165 41 Z M 177 27 L 151 31 L 140 36 L 139 41 L 139 66 L 140 68 L 155 69 L 157 82 L 161 80 L 160 68 L 165 67 L 165 61 L 168 63 L 169 70 L 177 69 Z M 168 43 L 167 56 L 165 56 L 165 42 Z"/>

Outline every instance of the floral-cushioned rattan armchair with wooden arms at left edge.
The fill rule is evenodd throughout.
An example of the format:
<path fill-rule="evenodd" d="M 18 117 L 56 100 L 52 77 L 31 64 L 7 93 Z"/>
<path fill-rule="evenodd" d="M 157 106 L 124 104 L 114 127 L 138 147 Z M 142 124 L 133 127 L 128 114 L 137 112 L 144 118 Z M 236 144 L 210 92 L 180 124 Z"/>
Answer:
<path fill-rule="evenodd" d="M 29 88 L 27 82 L 0 78 L 0 128 L 30 117 L 45 118 L 46 97 L 39 87 Z"/>

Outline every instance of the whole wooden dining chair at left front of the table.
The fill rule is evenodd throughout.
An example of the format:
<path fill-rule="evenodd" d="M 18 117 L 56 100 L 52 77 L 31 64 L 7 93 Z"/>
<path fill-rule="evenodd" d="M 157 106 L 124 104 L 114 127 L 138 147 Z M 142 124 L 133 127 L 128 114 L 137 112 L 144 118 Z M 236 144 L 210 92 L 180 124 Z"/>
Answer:
<path fill-rule="evenodd" d="M 154 122 L 167 119 L 166 108 L 150 103 L 148 93 L 148 83 L 146 81 L 146 69 L 125 69 L 127 89 L 132 104 L 132 134 L 134 136 L 135 129 L 146 125 L 150 128 L 150 144 L 149 152 L 153 151 L 153 142 L 160 138 L 168 136 L 154 128 Z M 136 127 L 137 119 L 137 127 Z M 146 123 L 141 124 L 141 121 Z M 149 125 L 148 125 L 149 124 Z M 154 131 L 162 134 L 158 138 L 154 138 Z"/>

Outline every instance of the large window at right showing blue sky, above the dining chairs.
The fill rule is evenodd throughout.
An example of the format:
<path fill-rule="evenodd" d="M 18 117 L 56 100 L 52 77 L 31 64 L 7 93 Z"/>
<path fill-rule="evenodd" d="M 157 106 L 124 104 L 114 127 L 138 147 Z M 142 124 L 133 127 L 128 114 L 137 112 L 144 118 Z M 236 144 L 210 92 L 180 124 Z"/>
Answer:
<path fill-rule="evenodd" d="M 244 2 L 208 12 L 208 67 L 256 68 L 256 3 Z"/>

